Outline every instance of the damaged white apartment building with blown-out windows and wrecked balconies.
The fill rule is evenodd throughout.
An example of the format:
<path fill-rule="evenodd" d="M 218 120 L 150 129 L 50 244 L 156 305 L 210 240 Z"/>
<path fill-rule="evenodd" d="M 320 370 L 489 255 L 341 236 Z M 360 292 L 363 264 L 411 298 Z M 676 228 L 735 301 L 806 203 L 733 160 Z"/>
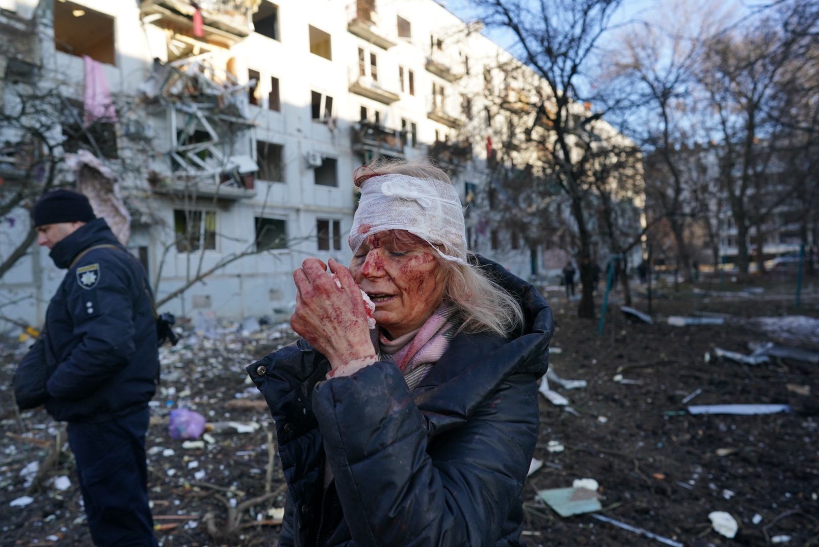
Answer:
<path fill-rule="evenodd" d="M 0 0 L 0 15 L 36 29 L 22 57 L 64 96 L 55 183 L 118 219 L 162 310 L 289 313 L 302 260 L 349 261 L 352 173 L 378 155 L 436 158 L 470 246 L 545 273 L 541 247 L 477 199 L 491 184 L 484 68 L 509 55 L 434 0 Z M 0 69 L 25 70 L 5 55 Z M 0 173 L 20 161 L 10 150 Z M 25 238 L 23 205 L 2 219 L 0 260 Z M 2 276 L 2 316 L 41 322 L 61 277 L 30 246 Z"/>

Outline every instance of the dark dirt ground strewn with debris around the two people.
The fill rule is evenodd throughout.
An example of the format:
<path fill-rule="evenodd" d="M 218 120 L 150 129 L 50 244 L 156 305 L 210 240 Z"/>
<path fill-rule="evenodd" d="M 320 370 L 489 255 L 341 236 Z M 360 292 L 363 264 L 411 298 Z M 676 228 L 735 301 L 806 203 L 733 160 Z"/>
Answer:
<path fill-rule="evenodd" d="M 788 332 L 771 337 L 749 318 L 817 318 L 819 292 L 806 291 L 795 309 L 788 287 L 742 288 L 655 288 L 654 325 L 628 322 L 615 294 L 602 335 L 596 321 L 575 317 L 576 302 L 547 292 L 557 323 L 552 346 L 562 350 L 551 356 L 552 367 L 587 386 L 565 390 L 551 382 L 568 407 L 541 397 L 535 458 L 544 464 L 524 490 L 527 545 L 663 545 L 590 513 L 561 518 L 536 501 L 538 490 L 578 478 L 599 482 L 597 514 L 653 532 L 666 545 L 819 545 L 819 365 L 772 359 L 752 366 L 713 356 L 715 346 L 748 354 L 749 341 L 793 345 Z M 634 306 L 645 311 L 647 302 L 637 296 Z M 688 327 L 665 319 L 690 314 L 728 316 L 723 325 Z M 819 350 L 814 335 L 798 338 L 799 346 Z M 271 509 L 283 506 L 283 480 L 278 458 L 269 466 L 269 414 L 243 366 L 291 336 L 283 327 L 222 333 L 163 352 L 147 441 L 161 545 L 275 544 L 278 514 Z M 7 344 L 0 355 L 0 544 L 91 545 L 70 451 L 53 461 L 59 424 L 42 410 L 18 416 L 12 406 L 15 349 Z M 697 390 L 690 405 L 781 403 L 792 412 L 691 415 L 682 400 Z M 168 414 L 181 404 L 213 424 L 204 447 L 186 449 L 170 438 Z M 550 441 L 564 450 L 550 451 Z M 34 461 L 40 469 L 26 486 L 24 469 Z M 70 480 L 66 490 L 57 489 L 62 476 Z M 29 504 L 12 506 L 25 495 Z M 713 511 L 739 523 L 733 540 L 713 530 Z"/>

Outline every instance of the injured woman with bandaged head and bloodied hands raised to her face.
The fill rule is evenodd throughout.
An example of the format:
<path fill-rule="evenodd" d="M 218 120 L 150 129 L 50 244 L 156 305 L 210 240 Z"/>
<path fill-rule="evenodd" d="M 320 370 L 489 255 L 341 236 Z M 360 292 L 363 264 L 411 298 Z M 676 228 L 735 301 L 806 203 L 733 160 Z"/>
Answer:
<path fill-rule="evenodd" d="M 356 174 L 350 267 L 305 260 L 302 338 L 247 367 L 287 480 L 278 545 L 523 545 L 551 310 L 467 251 L 428 160 Z"/>

